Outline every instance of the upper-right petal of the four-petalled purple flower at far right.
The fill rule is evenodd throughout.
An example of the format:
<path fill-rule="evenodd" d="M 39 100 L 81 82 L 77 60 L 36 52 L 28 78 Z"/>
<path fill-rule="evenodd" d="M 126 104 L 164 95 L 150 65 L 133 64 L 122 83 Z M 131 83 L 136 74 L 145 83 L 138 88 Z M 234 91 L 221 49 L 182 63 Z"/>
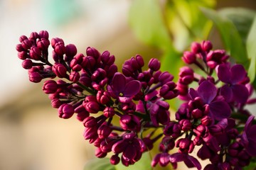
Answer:
<path fill-rule="evenodd" d="M 245 68 L 241 64 L 235 64 L 231 69 L 231 78 L 230 81 L 232 84 L 236 84 L 239 81 L 242 81 L 246 77 Z"/>

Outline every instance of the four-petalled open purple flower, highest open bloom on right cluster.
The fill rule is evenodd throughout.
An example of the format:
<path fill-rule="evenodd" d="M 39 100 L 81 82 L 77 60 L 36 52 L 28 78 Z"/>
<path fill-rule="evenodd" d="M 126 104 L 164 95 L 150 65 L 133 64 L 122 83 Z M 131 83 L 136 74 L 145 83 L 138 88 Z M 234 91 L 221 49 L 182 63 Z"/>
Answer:
<path fill-rule="evenodd" d="M 218 78 L 225 83 L 220 88 L 220 95 L 226 101 L 237 101 L 238 103 L 245 103 L 249 97 L 249 91 L 240 81 L 247 77 L 245 68 L 241 64 L 235 64 L 233 67 L 228 67 L 227 64 L 220 64 L 217 67 Z"/>

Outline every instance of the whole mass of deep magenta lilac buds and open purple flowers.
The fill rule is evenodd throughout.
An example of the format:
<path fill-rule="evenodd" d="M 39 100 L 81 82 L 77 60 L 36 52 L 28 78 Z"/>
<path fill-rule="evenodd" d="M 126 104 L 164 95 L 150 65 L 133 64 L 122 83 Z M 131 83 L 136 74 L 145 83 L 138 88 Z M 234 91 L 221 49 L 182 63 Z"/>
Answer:
<path fill-rule="evenodd" d="M 175 83 L 172 74 L 160 71 L 156 58 L 144 69 L 142 56 L 136 55 L 118 72 L 108 51 L 101 54 L 87 47 L 84 55 L 75 45 L 48 38 L 46 30 L 21 36 L 16 50 L 22 67 L 32 82 L 47 79 L 43 91 L 53 108 L 60 118 L 76 115 L 85 127 L 85 140 L 97 147 L 96 157 L 109 154 L 111 164 L 129 166 L 158 140 L 159 154 L 151 166 L 176 168 L 184 162 L 202 169 L 198 159 L 209 159 L 204 169 L 242 169 L 256 156 L 254 116 L 245 110 L 247 103 L 255 102 L 250 79 L 242 65 L 228 62 L 225 51 L 212 50 L 209 41 L 193 42 L 182 57 L 205 76 L 182 67 Z M 50 45 L 53 64 L 48 60 Z M 183 104 L 171 120 L 168 101 L 173 98 Z"/>

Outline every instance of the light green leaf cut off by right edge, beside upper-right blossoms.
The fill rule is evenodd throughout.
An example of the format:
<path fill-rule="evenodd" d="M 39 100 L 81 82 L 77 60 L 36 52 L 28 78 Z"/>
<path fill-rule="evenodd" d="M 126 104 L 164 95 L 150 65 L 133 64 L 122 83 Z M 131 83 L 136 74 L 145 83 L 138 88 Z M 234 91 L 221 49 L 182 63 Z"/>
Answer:
<path fill-rule="evenodd" d="M 251 81 L 255 80 L 255 67 L 256 67 L 256 16 L 250 28 L 250 32 L 246 40 L 247 54 L 250 58 L 250 67 L 248 69 L 248 75 Z"/>

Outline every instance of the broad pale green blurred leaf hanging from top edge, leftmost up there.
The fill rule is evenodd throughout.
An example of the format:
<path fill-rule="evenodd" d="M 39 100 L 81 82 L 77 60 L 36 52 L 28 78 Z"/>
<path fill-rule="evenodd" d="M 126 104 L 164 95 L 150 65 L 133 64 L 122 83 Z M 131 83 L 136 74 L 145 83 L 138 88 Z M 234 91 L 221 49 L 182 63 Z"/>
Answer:
<path fill-rule="evenodd" d="M 147 45 L 153 45 L 162 50 L 173 46 L 158 1 L 132 1 L 129 11 L 129 23 L 137 38 Z"/>

